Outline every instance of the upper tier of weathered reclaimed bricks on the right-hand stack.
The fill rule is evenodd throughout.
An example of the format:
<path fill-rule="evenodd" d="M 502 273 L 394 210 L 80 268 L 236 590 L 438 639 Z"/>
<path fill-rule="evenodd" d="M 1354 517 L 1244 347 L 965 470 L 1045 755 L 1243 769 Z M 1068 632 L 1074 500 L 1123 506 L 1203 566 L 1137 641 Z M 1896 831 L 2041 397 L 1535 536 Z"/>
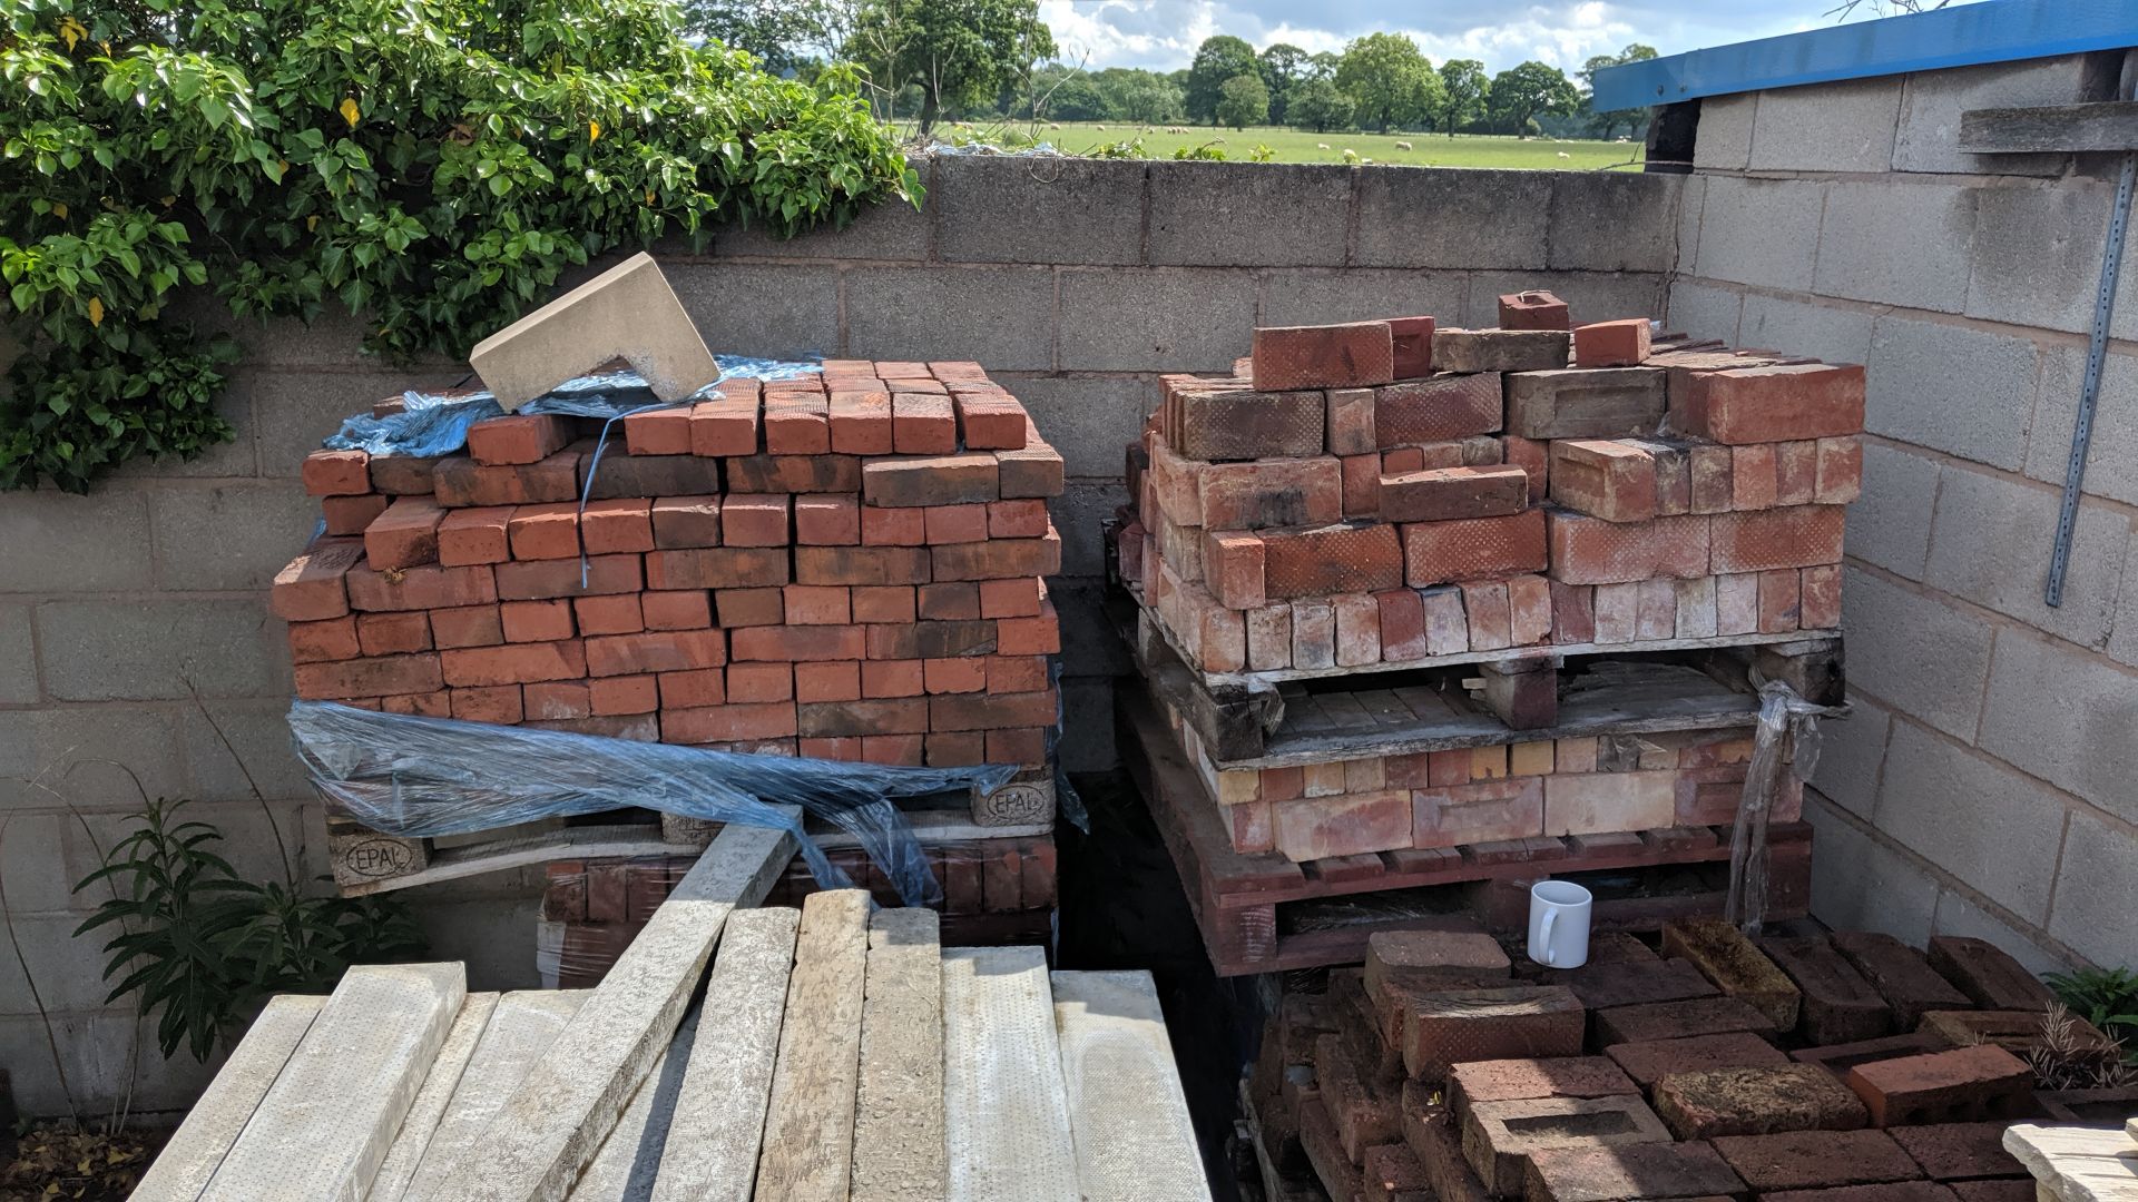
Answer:
<path fill-rule="evenodd" d="M 1858 366 L 1516 293 L 1499 329 L 1257 329 L 1234 376 L 1161 385 L 1122 575 L 1206 672 L 1841 620 Z"/>

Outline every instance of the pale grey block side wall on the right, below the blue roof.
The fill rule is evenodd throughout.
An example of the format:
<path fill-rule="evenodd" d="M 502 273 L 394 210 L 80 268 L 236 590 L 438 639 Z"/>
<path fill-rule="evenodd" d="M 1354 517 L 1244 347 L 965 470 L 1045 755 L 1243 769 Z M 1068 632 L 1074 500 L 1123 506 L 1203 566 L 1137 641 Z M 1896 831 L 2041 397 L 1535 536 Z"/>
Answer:
<path fill-rule="evenodd" d="M 2117 165 L 1954 143 L 1961 111 L 2102 98 L 2108 66 L 1702 101 L 1670 287 L 1676 327 L 1869 366 L 1856 716 L 1828 725 L 1807 798 L 1815 911 L 1988 937 L 2035 969 L 2138 962 L 2138 257 L 2052 610 Z"/>

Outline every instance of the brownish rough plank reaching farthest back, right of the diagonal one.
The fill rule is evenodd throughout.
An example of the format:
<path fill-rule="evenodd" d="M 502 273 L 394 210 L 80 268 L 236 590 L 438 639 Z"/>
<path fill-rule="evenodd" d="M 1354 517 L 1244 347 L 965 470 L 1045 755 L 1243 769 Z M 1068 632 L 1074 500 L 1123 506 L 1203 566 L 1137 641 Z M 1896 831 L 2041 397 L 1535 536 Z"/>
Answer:
<path fill-rule="evenodd" d="M 827 890 L 804 898 L 757 1157 L 757 1202 L 845 1202 L 851 1189 L 866 962 L 868 894 Z"/>

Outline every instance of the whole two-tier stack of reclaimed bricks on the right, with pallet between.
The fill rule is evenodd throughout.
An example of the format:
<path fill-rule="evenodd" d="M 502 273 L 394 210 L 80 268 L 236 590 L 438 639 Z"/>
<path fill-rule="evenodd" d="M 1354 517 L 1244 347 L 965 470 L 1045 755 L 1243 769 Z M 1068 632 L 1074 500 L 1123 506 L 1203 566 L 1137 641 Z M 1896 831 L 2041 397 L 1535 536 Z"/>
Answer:
<path fill-rule="evenodd" d="M 1330 962 L 1279 954 L 1268 900 L 1728 858 L 1755 682 L 1841 702 L 1858 366 L 1516 293 L 1497 329 L 1257 329 L 1161 387 L 1114 548 L 1223 971 Z M 1800 898 L 1798 811 L 1785 776 Z"/>

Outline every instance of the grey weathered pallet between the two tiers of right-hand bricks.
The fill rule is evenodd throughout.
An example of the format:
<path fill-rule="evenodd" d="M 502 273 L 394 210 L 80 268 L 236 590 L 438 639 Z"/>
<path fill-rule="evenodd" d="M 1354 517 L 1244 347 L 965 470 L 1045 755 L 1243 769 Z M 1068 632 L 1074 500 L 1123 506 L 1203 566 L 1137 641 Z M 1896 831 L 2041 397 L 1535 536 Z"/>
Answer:
<path fill-rule="evenodd" d="M 1807 699 L 1847 712 L 1839 639 L 1790 646 L 1651 652 L 1625 650 L 1561 661 L 1409 667 L 1368 665 L 1351 676 L 1272 682 L 1210 676 L 1180 657 L 1127 592 L 1107 601 L 1152 691 L 1202 736 L 1221 768 L 1287 768 L 1415 755 L 1501 742 L 1751 727 L 1753 678 L 1785 680 Z M 1535 665 L 1537 672 L 1529 672 Z M 1484 676 L 1477 697 L 1465 684 Z M 1514 684 L 1507 684 L 1514 682 Z M 1535 697 L 1548 699 L 1546 721 Z"/>

